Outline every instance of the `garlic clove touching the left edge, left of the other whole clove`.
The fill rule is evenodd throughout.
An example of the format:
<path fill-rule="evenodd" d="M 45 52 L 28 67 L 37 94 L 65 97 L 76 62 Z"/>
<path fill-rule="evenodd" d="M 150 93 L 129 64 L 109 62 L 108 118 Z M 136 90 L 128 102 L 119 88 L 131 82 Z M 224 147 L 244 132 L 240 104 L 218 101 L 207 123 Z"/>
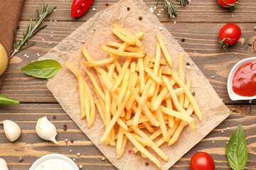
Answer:
<path fill-rule="evenodd" d="M 11 120 L 4 120 L 1 123 L 4 125 L 4 133 L 7 139 L 11 142 L 18 140 L 18 137 L 21 135 L 21 128 Z"/>

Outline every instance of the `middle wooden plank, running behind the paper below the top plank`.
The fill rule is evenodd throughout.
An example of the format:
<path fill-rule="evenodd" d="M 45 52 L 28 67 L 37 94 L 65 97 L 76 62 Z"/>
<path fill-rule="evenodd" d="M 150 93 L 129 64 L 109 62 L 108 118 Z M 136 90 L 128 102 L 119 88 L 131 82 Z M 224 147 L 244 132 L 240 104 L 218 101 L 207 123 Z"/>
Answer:
<path fill-rule="evenodd" d="M 57 22 L 55 25 L 54 23 L 45 22 L 48 26 L 32 38 L 36 42 L 35 45 L 19 52 L 11 60 L 0 94 L 18 99 L 23 103 L 57 103 L 46 87 L 46 80 L 28 77 L 20 71 L 29 62 L 38 60 L 38 54 L 43 55 L 48 52 L 82 24 L 82 22 Z M 27 21 L 20 22 L 18 38 L 21 38 L 22 31 L 26 30 L 27 25 Z M 227 79 L 230 69 L 236 62 L 255 56 L 252 47 L 247 45 L 247 42 L 256 39 L 255 24 L 240 23 L 242 37 L 237 44 L 228 47 L 227 50 L 221 49 L 218 45 L 218 30 L 223 25 L 164 23 L 164 26 L 176 38 L 181 47 L 188 52 L 188 55 L 191 56 L 225 103 L 247 103 L 247 101 L 234 102 L 230 100 L 227 92 Z M 53 35 L 53 38 L 50 35 Z M 185 38 L 185 42 L 181 42 L 181 38 Z M 49 45 L 49 42 L 52 44 Z M 23 57 L 25 54 L 29 56 L 28 59 Z"/>

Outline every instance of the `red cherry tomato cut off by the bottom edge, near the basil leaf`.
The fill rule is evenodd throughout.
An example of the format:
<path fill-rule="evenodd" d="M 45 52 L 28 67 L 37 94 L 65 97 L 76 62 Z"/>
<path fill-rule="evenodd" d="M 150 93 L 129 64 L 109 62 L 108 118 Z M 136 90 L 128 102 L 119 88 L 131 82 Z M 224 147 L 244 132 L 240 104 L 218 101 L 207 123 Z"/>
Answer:
<path fill-rule="evenodd" d="M 191 170 L 214 170 L 215 164 L 210 154 L 198 152 L 191 158 Z"/>

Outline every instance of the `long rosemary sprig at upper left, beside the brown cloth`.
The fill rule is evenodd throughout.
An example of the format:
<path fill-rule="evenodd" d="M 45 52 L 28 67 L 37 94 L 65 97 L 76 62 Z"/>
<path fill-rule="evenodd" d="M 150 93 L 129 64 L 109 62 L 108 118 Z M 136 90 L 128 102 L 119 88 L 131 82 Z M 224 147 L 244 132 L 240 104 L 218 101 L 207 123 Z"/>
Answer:
<path fill-rule="evenodd" d="M 14 31 L 14 50 L 11 53 L 11 57 L 14 57 L 14 55 L 17 52 L 20 52 L 21 50 L 24 50 L 28 47 L 31 47 L 35 42 L 31 42 L 26 46 L 23 46 L 25 44 L 25 42 L 29 39 L 31 39 L 31 37 L 37 33 L 39 30 L 45 28 L 46 26 L 42 26 L 41 28 L 39 28 L 39 26 L 41 25 L 42 21 L 44 18 L 46 18 L 46 16 L 48 16 L 48 14 L 50 14 L 55 8 L 56 6 L 53 6 L 53 8 L 50 8 L 48 6 L 48 4 L 46 4 L 46 6 L 43 4 L 43 0 L 42 1 L 42 11 L 41 11 L 41 15 L 40 18 L 38 18 L 38 8 L 36 9 L 36 23 L 35 26 L 33 26 L 33 18 L 32 16 L 30 17 L 30 23 L 28 26 L 28 29 L 26 30 L 26 33 L 23 33 L 23 40 L 17 40 L 16 39 L 16 33 Z M 49 9 L 50 8 L 50 9 Z M 33 27 L 33 28 L 32 28 Z"/>

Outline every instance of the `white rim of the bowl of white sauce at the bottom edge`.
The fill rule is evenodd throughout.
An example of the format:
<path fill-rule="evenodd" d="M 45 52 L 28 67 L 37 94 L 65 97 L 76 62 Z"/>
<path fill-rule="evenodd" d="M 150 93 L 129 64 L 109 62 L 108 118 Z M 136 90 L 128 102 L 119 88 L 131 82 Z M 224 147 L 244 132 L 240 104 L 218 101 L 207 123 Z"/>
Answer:
<path fill-rule="evenodd" d="M 63 159 L 64 161 L 68 162 L 75 170 L 79 170 L 78 166 L 73 162 L 72 159 L 62 155 L 62 154 L 47 154 L 39 159 L 36 160 L 31 166 L 29 170 L 35 170 L 36 167 L 41 164 L 42 162 L 46 161 L 47 159 Z"/>

